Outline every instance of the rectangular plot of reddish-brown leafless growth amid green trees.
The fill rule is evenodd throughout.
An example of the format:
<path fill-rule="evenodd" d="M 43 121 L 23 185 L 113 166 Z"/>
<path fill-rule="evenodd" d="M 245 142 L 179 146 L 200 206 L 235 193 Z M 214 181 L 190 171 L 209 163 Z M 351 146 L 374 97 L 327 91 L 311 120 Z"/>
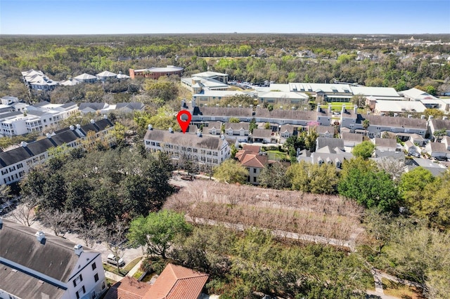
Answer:
<path fill-rule="evenodd" d="M 321 194 L 195 181 L 170 197 L 165 207 L 194 219 L 340 240 L 361 231 L 358 205 Z"/>

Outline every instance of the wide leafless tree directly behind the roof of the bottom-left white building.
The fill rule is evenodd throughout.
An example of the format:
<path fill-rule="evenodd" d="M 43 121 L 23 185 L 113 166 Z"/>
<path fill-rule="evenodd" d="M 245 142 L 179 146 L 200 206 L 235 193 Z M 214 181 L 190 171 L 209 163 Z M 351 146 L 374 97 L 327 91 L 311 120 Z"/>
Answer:
<path fill-rule="evenodd" d="M 64 237 L 68 232 L 77 232 L 83 214 L 80 210 L 68 212 L 56 209 L 40 211 L 38 219 L 44 227 L 49 227 L 56 236 Z"/>

